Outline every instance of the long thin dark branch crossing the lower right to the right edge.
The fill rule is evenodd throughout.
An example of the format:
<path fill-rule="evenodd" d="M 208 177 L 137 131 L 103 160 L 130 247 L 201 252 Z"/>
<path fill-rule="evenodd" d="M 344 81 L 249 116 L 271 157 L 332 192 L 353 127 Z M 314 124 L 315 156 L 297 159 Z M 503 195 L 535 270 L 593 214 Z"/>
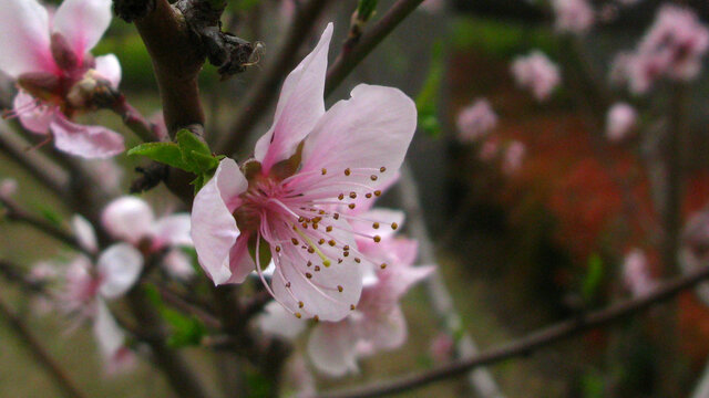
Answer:
<path fill-rule="evenodd" d="M 535 350 L 548 345 L 558 343 L 566 338 L 582 335 L 597 327 L 606 326 L 610 323 L 627 320 L 650 306 L 672 298 L 678 293 L 693 287 L 702 281 L 709 279 L 709 266 L 688 273 L 684 276 L 675 277 L 655 289 L 649 294 L 627 300 L 607 308 L 587 313 L 575 318 L 558 322 L 541 331 L 531 333 L 514 342 L 503 344 L 497 348 L 492 348 L 483 354 L 469 359 L 453 362 L 431 370 L 422 371 L 411 376 L 402 377 L 398 380 L 373 384 L 360 388 L 325 392 L 319 398 L 364 398 L 381 397 L 389 394 L 408 391 L 440 381 L 450 377 L 455 377 L 466 371 L 491 365 L 505 359 L 527 356 Z"/>

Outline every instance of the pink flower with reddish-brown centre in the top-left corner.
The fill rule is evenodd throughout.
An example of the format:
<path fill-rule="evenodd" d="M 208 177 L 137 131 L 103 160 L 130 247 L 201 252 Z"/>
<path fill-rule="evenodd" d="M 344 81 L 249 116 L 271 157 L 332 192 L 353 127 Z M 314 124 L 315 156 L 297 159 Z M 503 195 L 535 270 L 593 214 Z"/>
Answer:
<path fill-rule="evenodd" d="M 20 87 L 12 114 L 33 133 L 51 132 L 60 150 L 85 158 L 124 149 L 120 134 L 71 122 L 91 111 L 90 93 L 100 81 L 113 88 L 121 81 L 115 55 L 89 53 L 110 22 L 111 0 L 65 0 L 51 18 L 37 0 L 0 7 L 0 71 Z"/>

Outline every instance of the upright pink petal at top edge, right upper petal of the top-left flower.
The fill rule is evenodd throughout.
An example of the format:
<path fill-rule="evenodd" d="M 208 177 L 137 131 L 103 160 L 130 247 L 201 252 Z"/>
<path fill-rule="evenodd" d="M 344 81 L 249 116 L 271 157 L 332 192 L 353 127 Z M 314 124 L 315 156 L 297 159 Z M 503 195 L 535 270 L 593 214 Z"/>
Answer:
<path fill-rule="evenodd" d="M 64 0 L 52 23 L 53 31 L 66 39 L 81 64 L 111 23 L 111 0 Z"/>

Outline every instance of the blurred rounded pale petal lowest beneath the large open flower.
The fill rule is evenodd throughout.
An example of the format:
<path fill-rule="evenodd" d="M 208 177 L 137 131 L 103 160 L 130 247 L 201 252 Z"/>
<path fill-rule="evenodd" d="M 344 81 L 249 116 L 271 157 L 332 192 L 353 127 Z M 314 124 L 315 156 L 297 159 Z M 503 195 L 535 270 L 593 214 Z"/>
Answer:
<path fill-rule="evenodd" d="M 308 356 L 315 367 L 330 376 L 357 371 L 358 336 L 348 322 L 321 323 L 308 338 Z"/>

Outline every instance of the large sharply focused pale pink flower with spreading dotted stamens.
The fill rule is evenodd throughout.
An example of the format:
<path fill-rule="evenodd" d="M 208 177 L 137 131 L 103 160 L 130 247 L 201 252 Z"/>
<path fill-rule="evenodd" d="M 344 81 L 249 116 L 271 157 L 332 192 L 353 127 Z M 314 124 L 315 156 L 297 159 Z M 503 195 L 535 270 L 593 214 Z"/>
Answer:
<path fill-rule="evenodd" d="M 380 195 L 409 147 L 415 105 L 399 90 L 358 85 L 325 112 L 323 87 L 332 25 L 284 82 L 270 129 L 255 159 L 224 159 L 197 193 L 192 237 L 215 284 L 240 283 L 254 270 L 248 247 L 268 245 L 276 265 L 274 297 L 296 316 L 339 321 L 359 301 L 361 263 L 347 212 L 357 198 Z M 386 226 L 382 223 L 382 226 Z M 373 241 L 381 237 L 370 235 Z M 264 264 L 265 265 L 265 264 Z"/>

